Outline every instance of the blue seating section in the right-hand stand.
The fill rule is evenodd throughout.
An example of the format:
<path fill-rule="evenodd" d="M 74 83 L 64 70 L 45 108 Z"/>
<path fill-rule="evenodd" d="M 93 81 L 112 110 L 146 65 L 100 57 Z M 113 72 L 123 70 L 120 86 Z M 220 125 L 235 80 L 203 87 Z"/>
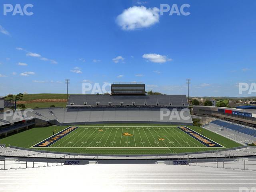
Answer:
<path fill-rule="evenodd" d="M 220 120 L 215 120 L 215 121 L 212 121 L 211 123 L 256 137 L 256 130 L 254 129 L 245 128 L 244 126 L 234 125 L 234 124 L 223 122 Z"/>

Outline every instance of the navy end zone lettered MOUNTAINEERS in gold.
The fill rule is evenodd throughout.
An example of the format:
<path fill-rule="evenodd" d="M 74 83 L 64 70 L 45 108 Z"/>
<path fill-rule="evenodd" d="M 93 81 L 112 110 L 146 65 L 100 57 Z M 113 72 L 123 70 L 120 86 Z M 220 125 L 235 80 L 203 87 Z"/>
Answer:
<path fill-rule="evenodd" d="M 52 144 L 54 144 L 56 141 L 60 140 L 62 137 L 66 136 L 70 132 L 74 131 L 78 127 L 68 127 L 61 132 L 58 132 L 57 134 L 47 138 L 46 140 L 41 141 L 40 143 L 34 145 L 33 147 L 48 147 Z"/>

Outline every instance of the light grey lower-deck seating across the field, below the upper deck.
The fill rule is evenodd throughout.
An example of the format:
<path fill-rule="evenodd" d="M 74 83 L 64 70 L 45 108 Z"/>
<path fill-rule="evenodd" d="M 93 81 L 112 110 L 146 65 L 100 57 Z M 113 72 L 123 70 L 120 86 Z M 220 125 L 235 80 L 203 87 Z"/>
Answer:
<path fill-rule="evenodd" d="M 180 110 L 178 109 L 178 112 Z M 161 119 L 160 108 L 45 108 L 28 112 L 29 116 L 44 121 L 57 120 L 59 123 L 75 122 L 176 122 L 192 124 L 188 109 L 184 109 L 184 116 L 188 120 L 164 116 Z"/>

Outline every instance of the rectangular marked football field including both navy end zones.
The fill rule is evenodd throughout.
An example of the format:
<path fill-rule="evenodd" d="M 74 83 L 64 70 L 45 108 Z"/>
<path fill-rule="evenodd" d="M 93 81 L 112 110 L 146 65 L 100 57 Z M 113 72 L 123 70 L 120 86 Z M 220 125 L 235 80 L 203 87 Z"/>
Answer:
<path fill-rule="evenodd" d="M 74 126 L 67 127 L 32 147 L 168 149 L 211 146 L 223 147 L 186 126 Z"/>

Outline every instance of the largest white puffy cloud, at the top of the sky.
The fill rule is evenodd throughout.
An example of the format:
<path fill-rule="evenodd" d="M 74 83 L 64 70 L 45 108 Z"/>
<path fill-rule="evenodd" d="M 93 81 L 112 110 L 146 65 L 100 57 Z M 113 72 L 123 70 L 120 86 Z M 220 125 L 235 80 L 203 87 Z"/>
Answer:
<path fill-rule="evenodd" d="M 133 6 L 118 15 L 116 22 L 123 30 L 146 28 L 159 22 L 159 12 L 156 7 Z"/>

